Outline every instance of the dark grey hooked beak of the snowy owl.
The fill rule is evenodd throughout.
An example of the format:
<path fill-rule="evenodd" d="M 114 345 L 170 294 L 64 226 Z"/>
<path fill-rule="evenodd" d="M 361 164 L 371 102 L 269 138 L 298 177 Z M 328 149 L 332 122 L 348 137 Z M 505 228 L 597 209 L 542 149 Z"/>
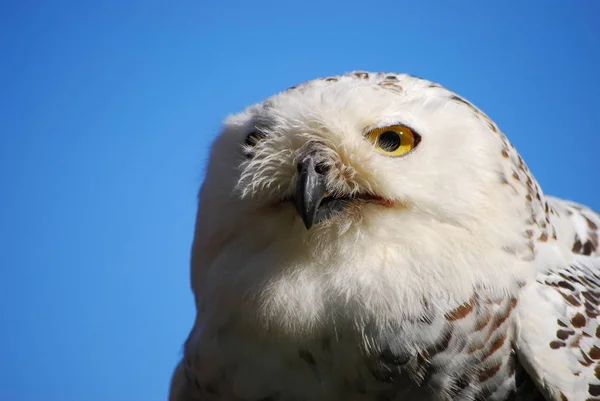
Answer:
<path fill-rule="evenodd" d="M 298 164 L 294 203 L 306 229 L 310 229 L 315 222 L 319 205 L 326 193 L 325 172 L 319 168 L 318 161 L 313 155 L 305 156 Z"/>

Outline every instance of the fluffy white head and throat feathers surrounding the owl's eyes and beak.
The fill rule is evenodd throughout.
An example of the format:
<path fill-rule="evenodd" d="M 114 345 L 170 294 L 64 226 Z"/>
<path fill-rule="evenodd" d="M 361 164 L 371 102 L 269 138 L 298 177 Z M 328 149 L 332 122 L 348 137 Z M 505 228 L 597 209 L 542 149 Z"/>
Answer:
<path fill-rule="evenodd" d="M 502 250 L 524 242 L 525 211 L 501 182 L 504 142 L 489 120 L 428 81 L 399 75 L 394 90 L 382 82 L 316 81 L 226 121 L 200 198 L 194 289 L 202 308 L 204 297 L 223 299 L 205 318 L 240 313 L 246 297 L 249 324 L 304 335 L 332 315 L 390 323 L 421 315 L 415 299 L 446 307 L 474 286 L 509 293 L 515 276 L 528 274 Z M 365 139 L 399 123 L 422 136 L 407 155 L 381 155 Z M 246 159 L 255 130 L 265 138 Z M 279 202 L 315 143 L 332 167 L 333 192 L 396 205 L 356 207 L 307 231 L 292 204 Z"/>

